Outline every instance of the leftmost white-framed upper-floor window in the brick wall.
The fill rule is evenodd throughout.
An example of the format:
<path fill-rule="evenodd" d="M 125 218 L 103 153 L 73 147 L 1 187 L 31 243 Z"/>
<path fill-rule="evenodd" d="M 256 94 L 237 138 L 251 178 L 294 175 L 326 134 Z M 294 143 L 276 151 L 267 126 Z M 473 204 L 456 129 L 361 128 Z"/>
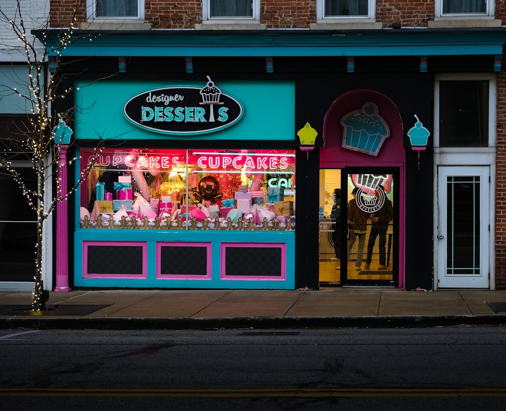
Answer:
<path fill-rule="evenodd" d="M 88 20 L 141 20 L 144 0 L 88 0 Z"/>

